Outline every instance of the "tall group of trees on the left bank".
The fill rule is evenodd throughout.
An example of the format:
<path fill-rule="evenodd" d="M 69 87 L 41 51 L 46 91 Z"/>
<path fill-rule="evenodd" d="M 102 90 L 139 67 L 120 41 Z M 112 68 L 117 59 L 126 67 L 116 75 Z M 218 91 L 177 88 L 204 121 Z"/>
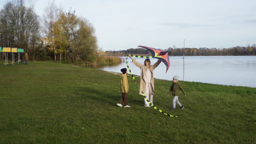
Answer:
<path fill-rule="evenodd" d="M 0 46 L 24 49 L 31 60 L 72 62 L 94 62 L 98 49 L 94 27 L 75 11 L 66 13 L 50 2 L 40 17 L 33 2 L 24 0 L 9 1 L 0 10 Z"/>

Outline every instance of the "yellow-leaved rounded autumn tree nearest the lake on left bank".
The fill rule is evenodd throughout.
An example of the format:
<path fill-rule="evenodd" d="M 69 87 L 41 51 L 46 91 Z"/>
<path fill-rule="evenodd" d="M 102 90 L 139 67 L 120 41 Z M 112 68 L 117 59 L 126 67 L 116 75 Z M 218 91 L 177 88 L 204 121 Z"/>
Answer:
<path fill-rule="evenodd" d="M 49 28 L 49 27 L 48 27 Z M 49 48 L 54 50 L 55 56 L 65 54 L 73 62 L 83 60 L 94 62 L 97 54 L 97 39 L 95 29 L 85 19 L 75 15 L 75 11 L 64 13 L 50 25 L 51 31 L 45 39 L 51 41 Z"/>

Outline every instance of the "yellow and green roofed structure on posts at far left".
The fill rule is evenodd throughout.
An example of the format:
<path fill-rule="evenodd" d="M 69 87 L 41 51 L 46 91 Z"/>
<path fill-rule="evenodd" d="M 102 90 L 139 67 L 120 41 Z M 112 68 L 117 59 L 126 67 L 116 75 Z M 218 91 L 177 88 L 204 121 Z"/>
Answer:
<path fill-rule="evenodd" d="M 11 54 L 11 64 L 15 64 L 15 53 L 18 53 L 18 61 L 17 63 L 19 64 L 21 62 L 20 59 L 20 52 L 24 52 L 24 49 L 18 49 L 15 47 L 0 47 L 0 52 L 1 54 L 3 53 L 4 57 L 4 65 L 8 65 L 8 53 Z M 0 54 L 0 59 L 1 59 L 1 54 Z"/>

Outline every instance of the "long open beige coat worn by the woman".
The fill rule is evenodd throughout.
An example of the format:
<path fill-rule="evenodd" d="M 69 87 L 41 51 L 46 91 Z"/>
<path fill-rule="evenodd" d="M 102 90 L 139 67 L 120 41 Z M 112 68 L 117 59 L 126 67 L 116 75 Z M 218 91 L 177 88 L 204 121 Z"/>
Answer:
<path fill-rule="evenodd" d="M 147 67 L 146 65 L 140 64 L 136 59 L 132 58 L 132 62 L 141 69 L 141 80 L 139 84 L 139 94 L 142 95 L 141 91 L 145 91 L 146 89 L 146 82 L 144 80 L 144 77 L 146 77 L 146 71 L 149 69 L 151 72 L 151 86 L 152 86 L 152 95 L 154 95 L 154 69 L 158 67 L 158 65 L 161 63 L 161 60 L 158 59 L 158 61 L 154 65 L 150 65 Z"/>

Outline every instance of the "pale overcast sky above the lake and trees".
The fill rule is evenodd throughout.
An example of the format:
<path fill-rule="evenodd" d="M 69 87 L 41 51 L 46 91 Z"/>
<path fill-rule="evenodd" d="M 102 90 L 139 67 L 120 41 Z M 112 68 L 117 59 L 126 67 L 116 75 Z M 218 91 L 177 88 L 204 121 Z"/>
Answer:
<path fill-rule="evenodd" d="M 0 8 L 7 1 L 1 0 Z M 46 0 L 35 0 L 42 17 Z M 55 0 L 96 29 L 98 46 L 126 50 L 138 45 L 229 48 L 256 44 L 255 0 Z"/>

